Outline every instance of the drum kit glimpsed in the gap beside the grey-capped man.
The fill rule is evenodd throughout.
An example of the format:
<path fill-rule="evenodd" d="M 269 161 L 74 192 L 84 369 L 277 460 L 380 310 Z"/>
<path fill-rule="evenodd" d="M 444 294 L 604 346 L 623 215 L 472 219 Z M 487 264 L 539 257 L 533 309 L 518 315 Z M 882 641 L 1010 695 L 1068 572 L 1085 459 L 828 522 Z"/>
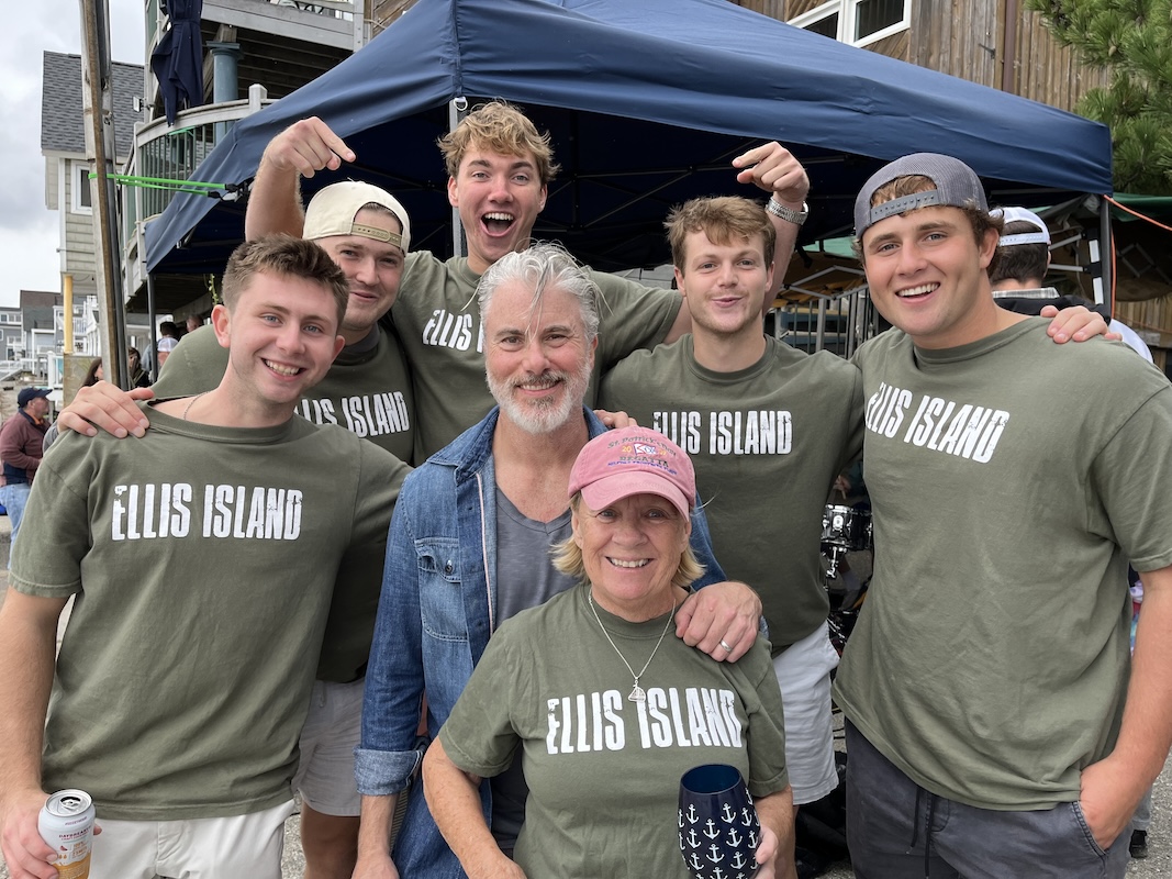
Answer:
<path fill-rule="evenodd" d="M 826 504 L 822 512 L 822 561 L 830 597 L 830 640 L 839 653 L 854 629 L 871 582 L 872 558 L 858 553 L 873 552 L 871 510 Z"/>

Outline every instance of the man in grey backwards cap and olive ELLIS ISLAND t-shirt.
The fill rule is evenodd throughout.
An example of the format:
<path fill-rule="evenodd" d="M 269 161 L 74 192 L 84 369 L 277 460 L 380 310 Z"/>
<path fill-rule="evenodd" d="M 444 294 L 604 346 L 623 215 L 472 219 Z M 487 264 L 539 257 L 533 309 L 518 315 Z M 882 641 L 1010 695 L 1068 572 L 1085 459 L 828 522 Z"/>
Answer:
<path fill-rule="evenodd" d="M 836 681 L 856 874 L 1123 877 L 1172 742 L 1172 386 L 997 307 L 1002 222 L 958 159 L 886 165 L 854 214 L 895 326 L 856 357 L 875 536 Z"/>

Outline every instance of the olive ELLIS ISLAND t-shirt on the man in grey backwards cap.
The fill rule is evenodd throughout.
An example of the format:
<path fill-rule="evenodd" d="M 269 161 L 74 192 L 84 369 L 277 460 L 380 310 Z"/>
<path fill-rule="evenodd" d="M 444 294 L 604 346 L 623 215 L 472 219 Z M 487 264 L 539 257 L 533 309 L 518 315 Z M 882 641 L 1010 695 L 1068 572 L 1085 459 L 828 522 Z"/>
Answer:
<path fill-rule="evenodd" d="M 982 809 L 1078 799 L 1126 699 L 1127 561 L 1172 565 L 1172 386 L 1047 325 L 856 355 L 874 578 L 836 700 L 917 784 Z"/>

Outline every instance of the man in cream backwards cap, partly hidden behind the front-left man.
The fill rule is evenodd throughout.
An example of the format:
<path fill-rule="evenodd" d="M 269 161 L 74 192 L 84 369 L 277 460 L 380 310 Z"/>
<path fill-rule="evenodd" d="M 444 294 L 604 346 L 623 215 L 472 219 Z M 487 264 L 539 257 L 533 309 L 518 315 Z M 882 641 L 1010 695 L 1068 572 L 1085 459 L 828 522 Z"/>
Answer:
<path fill-rule="evenodd" d="M 298 414 L 311 422 L 340 424 L 407 462 L 415 441 L 411 381 L 398 339 L 380 319 L 398 294 L 410 236 L 403 206 L 368 183 L 335 183 L 309 202 L 305 237 L 339 265 L 350 284 L 350 298 L 339 329 L 346 347 L 298 406 Z M 155 394 L 198 394 L 214 387 L 227 364 L 226 354 L 211 327 L 197 329 L 171 355 Z M 301 736 L 294 789 L 301 793 L 307 879 L 348 878 L 357 857 L 362 800 L 354 783 L 354 747 L 379 605 L 377 584 L 372 586 L 361 606 L 331 609 Z"/>

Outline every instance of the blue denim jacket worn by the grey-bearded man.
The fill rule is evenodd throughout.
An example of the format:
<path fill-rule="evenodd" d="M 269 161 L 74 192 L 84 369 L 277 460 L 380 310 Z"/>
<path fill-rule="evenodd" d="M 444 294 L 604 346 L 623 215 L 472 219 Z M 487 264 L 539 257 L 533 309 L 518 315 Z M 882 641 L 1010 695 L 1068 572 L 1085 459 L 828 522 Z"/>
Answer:
<path fill-rule="evenodd" d="M 395 504 L 367 669 L 362 738 L 354 751 L 363 795 L 402 792 L 423 759 L 416 729 L 427 693 L 428 735 L 448 718 L 497 626 L 497 504 L 492 436 L 498 409 L 410 476 Z M 582 409 L 592 437 L 606 432 Z M 724 580 L 703 511 L 691 546 L 706 566 L 695 586 Z M 490 818 L 488 782 L 481 785 Z M 431 819 L 422 792 L 410 797 L 395 841 L 400 875 L 458 879 L 464 873 Z"/>

